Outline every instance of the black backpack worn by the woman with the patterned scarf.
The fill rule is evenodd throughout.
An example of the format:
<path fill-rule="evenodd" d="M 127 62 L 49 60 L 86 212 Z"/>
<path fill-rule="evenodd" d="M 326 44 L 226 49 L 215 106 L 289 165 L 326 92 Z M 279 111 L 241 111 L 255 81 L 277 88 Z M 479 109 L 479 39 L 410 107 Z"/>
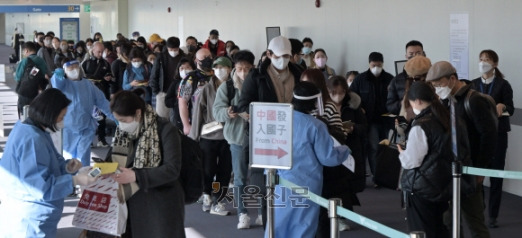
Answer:
<path fill-rule="evenodd" d="M 181 137 L 179 181 L 185 191 L 185 204 L 195 203 L 203 193 L 203 151 L 199 143 L 178 130 Z"/>

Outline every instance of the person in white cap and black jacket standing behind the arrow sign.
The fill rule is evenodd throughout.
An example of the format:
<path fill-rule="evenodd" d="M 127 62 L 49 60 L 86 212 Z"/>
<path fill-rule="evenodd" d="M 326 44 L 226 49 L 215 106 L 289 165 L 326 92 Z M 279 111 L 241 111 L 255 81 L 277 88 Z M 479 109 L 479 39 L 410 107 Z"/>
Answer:
<path fill-rule="evenodd" d="M 278 36 L 270 40 L 266 57 L 256 70 L 252 70 L 246 76 L 241 87 L 237 113 L 243 115 L 242 117 L 246 120 L 249 117 L 251 102 L 290 103 L 294 86 L 301 78 L 302 71 L 297 65 L 290 63 L 292 45 L 288 38 Z M 245 130 L 243 138 L 245 158 L 250 158 L 249 140 L 248 130 Z M 264 187 L 263 172 L 264 169 L 251 169 L 251 184 L 260 188 Z M 262 189 L 261 193 L 263 191 L 265 190 Z M 266 200 L 262 200 L 261 205 L 266 206 Z M 261 221 L 263 225 L 266 225 L 266 209 L 263 211 Z"/>

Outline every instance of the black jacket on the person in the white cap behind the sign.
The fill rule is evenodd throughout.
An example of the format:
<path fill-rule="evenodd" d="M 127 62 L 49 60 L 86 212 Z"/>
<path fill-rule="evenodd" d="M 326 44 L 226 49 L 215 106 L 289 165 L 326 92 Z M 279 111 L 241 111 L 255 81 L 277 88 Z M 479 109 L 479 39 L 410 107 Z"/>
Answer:
<path fill-rule="evenodd" d="M 268 75 L 268 66 L 271 63 L 270 59 L 265 59 L 259 69 L 250 71 L 246 77 L 239 98 L 239 112 L 248 112 L 251 102 L 278 102 L 274 84 Z M 299 83 L 302 73 L 299 67 L 288 63 L 288 68 L 294 75 L 295 84 Z"/>

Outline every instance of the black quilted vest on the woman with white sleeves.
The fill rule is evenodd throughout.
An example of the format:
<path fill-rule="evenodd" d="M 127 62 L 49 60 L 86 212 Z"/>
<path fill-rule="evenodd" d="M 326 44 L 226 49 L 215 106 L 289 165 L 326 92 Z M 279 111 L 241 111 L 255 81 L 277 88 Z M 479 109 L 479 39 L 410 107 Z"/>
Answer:
<path fill-rule="evenodd" d="M 420 167 L 405 169 L 401 177 L 404 191 L 432 202 L 448 201 L 451 189 L 451 133 L 448 133 L 430 108 L 417 115 L 412 127 L 420 126 L 428 139 L 428 154 Z"/>

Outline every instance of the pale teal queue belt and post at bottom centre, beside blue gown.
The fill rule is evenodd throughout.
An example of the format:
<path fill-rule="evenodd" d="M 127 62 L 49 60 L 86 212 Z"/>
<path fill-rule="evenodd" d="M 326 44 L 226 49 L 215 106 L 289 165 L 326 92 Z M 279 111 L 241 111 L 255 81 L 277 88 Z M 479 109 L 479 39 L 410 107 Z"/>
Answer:
<path fill-rule="evenodd" d="M 332 207 L 331 204 L 337 202 L 335 198 L 327 200 L 326 198 L 323 198 L 317 194 L 314 194 L 314 193 L 308 191 L 308 189 L 304 189 L 281 177 L 279 177 L 279 185 L 292 189 L 292 191 L 295 192 L 295 194 L 302 195 L 302 196 L 306 197 L 308 200 L 318 204 L 319 206 L 326 208 L 328 210 L 329 217 L 331 218 L 331 220 L 333 222 L 333 224 L 331 224 L 332 227 L 337 227 L 337 224 L 338 224 L 337 218 L 338 217 L 336 215 L 338 214 L 341 217 L 349 219 L 357 224 L 365 226 L 365 227 L 367 227 L 375 232 L 378 232 L 382 235 L 385 235 L 387 237 L 393 237 L 393 238 L 410 238 L 410 237 L 421 238 L 421 237 L 424 237 L 424 232 L 414 231 L 408 235 L 406 233 L 402 233 L 398 230 L 390 228 L 386 225 L 380 224 L 370 218 L 361 216 L 342 206 L 333 206 L 337 209 L 330 209 Z M 337 210 L 337 211 L 335 211 L 335 210 Z M 333 231 L 333 229 L 334 228 L 332 228 L 331 230 Z M 339 236 L 338 230 L 335 230 L 335 231 L 336 232 L 331 232 L 331 237 Z"/>

